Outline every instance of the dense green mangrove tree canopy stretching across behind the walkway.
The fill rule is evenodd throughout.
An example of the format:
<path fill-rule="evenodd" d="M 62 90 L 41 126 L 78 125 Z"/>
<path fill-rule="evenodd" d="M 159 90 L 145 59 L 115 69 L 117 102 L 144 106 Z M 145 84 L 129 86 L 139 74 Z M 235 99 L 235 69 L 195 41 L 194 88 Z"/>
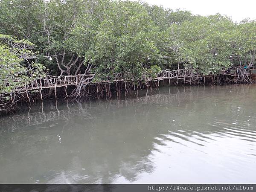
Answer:
<path fill-rule="evenodd" d="M 256 21 L 130 1 L 0 0 L 0 34 L 1 92 L 43 71 L 76 75 L 91 65 L 95 78 L 139 78 L 160 68 L 217 73 L 253 66 L 256 54 Z"/>

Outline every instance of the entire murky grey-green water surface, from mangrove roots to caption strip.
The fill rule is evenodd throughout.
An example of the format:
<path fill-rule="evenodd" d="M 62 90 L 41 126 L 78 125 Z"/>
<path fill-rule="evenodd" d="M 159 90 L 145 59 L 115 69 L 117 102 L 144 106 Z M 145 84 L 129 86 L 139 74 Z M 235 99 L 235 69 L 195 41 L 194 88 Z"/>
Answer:
<path fill-rule="evenodd" d="M 256 84 L 52 100 L 0 118 L 0 183 L 255 181 Z"/>

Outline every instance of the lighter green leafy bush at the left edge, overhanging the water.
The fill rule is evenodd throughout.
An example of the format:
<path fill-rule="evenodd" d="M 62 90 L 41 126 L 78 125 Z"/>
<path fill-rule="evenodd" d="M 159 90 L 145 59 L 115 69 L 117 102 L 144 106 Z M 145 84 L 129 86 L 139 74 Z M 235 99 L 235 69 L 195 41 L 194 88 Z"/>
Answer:
<path fill-rule="evenodd" d="M 0 93 L 12 92 L 43 76 L 45 67 L 29 61 L 35 57 L 34 44 L 0 34 Z"/>

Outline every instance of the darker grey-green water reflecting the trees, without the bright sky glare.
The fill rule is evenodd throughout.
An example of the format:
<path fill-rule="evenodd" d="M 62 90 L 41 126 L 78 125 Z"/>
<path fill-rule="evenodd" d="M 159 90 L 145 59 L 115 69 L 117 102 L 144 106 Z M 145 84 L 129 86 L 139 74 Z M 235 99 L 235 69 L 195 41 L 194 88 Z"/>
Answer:
<path fill-rule="evenodd" d="M 239 137 L 255 142 L 255 114 L 243 108 L 255 99 L 252 86 L 162 87 L 57 107 L 49 100 L 2 117 L 0 183 L 132 183 L 154 172 L 157 152 L 206 154 L 207 143 L 241 127 Z"/>

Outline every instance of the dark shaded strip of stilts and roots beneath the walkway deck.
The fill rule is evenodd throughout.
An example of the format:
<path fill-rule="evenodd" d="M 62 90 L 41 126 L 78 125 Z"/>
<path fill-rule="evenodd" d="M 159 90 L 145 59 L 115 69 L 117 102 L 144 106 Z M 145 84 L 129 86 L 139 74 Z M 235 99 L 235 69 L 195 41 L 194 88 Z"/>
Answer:
<path fill-rule="evenodd" d="M 24 104 L 35 105 L 38 102 L 45 102 L 47 100 L 57 100 L 62 99 L 66 102 L 76 102 L 76 101 L 88 101 L 90 99 L 115 99 L 120 98 L 126 95 L 133 93 L 134 91 L 138 90 L 151 90 L 160 88 L 160 87 L 172 87 L 172 86 L 211 86 L 211 85 L 232 85 L 232 84 L 251 84 L 255 81 L 250 81 L 250 83 L 227 83 L 225 82 L 224 74 L 222 75 L 214 75 L 214 76 L 204 76 L 191 81 L 190 78 L 178 78 L 178 79 L 152 79 L 151 81 L 147 81 L 146 83 L 143 81 L 137 81 L 138 84 L 133 84 L 131 81 L 124 82 L 115 82 L 109 81 L 105 82 L 104 84 L 94 83 L 89 84 L 87 86 L 87 96 L 79 97 L 79 98 L 72 98 L 68 97 L 67 93 L 72 93 L 72 90 L 76 88 L 76 86 L 70 87 L 57 87 L 55 90 L 52 88 L 47 88 L 44 91 L 38 90 L 32 93 L 25 92 L 25 93 L 18 93 L 20 94 L 20 100 L 17 100 L 15 103 L 12 103 L 12 106 L 9 108 L 9 112 L 0 112 L 1 116 L 8 116 L 14 114 L 16 112 L 22 111 L 21 107 Z M 15 104 L 15 105 L 14 105 Z M 29 107 L 30 108 L 30 107 Z M 28 108 L 28 109 L 29 109 Z"/>

